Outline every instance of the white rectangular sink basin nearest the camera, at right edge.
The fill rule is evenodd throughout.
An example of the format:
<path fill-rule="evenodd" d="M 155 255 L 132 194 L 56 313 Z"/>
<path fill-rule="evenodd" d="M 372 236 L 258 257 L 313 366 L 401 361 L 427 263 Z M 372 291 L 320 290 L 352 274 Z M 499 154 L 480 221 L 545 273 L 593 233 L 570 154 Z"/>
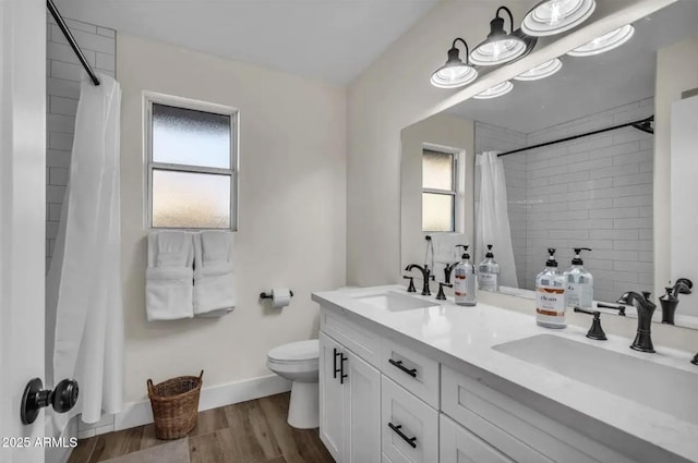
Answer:
<path fill-rule="evenodd" d="M 492 349 L 698 424 L 698 370 L 672 368 L 554 334 L 538 334 Z"/>

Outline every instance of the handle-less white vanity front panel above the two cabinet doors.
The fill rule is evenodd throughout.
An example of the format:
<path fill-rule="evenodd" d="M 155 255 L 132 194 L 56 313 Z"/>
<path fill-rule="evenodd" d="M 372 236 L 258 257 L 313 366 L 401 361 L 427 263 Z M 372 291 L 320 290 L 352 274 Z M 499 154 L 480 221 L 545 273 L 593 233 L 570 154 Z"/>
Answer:
<path fill-rule="evenodd" d="M 381 338 L 346 315 L 321 307 L 320 329 L 376 368 L 381 367 Z"/>

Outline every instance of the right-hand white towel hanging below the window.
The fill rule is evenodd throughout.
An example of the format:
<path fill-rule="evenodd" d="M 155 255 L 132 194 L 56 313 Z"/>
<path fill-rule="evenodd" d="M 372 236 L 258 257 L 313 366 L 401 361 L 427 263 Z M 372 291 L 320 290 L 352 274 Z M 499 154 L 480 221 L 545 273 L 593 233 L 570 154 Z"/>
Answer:
<path fill-rule="evenodd" d="M 219 317 L 236 306 L 232 233 L 194 234 L 194 315 Z"/>

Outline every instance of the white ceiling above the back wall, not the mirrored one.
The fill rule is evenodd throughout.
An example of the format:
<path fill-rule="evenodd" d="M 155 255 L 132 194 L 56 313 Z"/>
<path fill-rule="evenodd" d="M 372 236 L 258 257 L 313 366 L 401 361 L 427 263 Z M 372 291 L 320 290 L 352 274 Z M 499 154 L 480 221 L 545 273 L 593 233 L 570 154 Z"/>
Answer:
<path fill-rule="evenodd" d="M 438 0 L 57 0 L 64 17 L 332 84 Z"/>

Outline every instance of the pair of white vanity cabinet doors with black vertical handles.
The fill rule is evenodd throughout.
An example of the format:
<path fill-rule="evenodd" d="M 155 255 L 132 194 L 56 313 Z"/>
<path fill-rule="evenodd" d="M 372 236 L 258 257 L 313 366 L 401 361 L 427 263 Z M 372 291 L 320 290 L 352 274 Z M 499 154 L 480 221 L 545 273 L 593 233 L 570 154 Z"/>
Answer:
<path fill-rule="evenodd" d="M 381 458 L 381 373 L 320 334 L 320 438 L 337 463 Z"/>

